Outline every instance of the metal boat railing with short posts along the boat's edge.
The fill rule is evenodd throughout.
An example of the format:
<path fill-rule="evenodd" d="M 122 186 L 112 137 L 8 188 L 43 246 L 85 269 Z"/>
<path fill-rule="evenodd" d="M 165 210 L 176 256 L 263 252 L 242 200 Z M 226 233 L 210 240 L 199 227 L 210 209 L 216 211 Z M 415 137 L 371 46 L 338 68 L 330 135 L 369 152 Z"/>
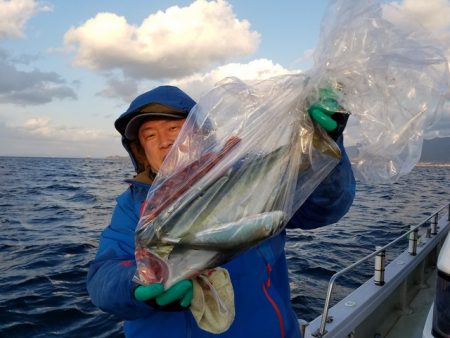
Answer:
<path fill-rule="evenodd" d="M 384 284 L 384 265 L 385 265 L 385 255 L 386 250 L 390 247 L 392 247 L 397 242 L 405 239 L 405 237 L 409 237 L 408 241 L 408 252 L 410 255 L 415 256 L 416 250 L 417 250 L 417 241 L 418 241 L 418 232 L 419 228 L 424 227 L 427 225 L 427 237 L 431 237 L 433 235 L 437 234 L 437 224 L 439 221 L 439 216 L 442 215 L 442 212 L 447 209 L 447 217 L 450 221 L 450 203 L 447 205 L 444 205 L 440 209 L 438 209 L 436 212 L 434 212 L 431 216 L 427 217 L 423 222 L 419 223 L 418 225 L 411 226 L 410 230 L 406 233 L 402 234 L 401 236 L 394 239 L 392 242 L 389 242 L 388 244 L 384 246 L 377 246 L 376 250 L 372 252 L 371 254 L 361 258 L 357 262 L 349 265 L 348 267 L 344 268 L 343 270 L 335 273 L 333 276 L 331 276 L 330 281 L 328 283 L 328 289 L 327 289 L 327 295 L 325 298 L 325 304 L 322 312 L 321 322 L 320 322 L 320 328 L 318 332 L 315 332 L 313 336 L 315 337 L 323 337 L 326 333 L 326 324 L 328 319 L 328 311 L 330 308 L 330 301 L 331 296 L 333 292 L 333 287 L 335 284 L 335 281 L 337 278 L 345 274 L 346 272 L 354 269 L 355 267 L 361 265 L 362 263 L 366 262 L 367 260 L 375 257 L 375 273 L 374 273 L 374 283 L 377 285 L 383 285 Z"/>

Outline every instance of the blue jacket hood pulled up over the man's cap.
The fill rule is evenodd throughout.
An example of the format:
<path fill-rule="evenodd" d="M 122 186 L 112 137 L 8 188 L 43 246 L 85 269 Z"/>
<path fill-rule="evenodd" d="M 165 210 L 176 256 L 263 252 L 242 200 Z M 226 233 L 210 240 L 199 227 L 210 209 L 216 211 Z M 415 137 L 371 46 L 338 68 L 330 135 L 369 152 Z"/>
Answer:
<path fill-rule="evenodd" d="M 136 97 L 128 109 L 120 115 L 115 121 L 114 126 L 120 135 L 122 135 L 122 145 L 130 155 L 131 162 L 137 173 L 141 173 L 147 168 L 145 167 L 143 154 L 140 153 L 142 151 L 139 150 L 139 141 L 129 140 L 125 136 L 125 131 L 130 121 L 133 119 L 136 120 L 135 118 L 138 115 L 148 115 L 152 105 L 155 107 L 165 106 L 187 116 L 195 104 L 196 102 L 178 87 L 160 86 Z M 160 113 L 159 115 L 161 115 L 161 112 L 164 114 L 164 110 L 159 110 L 158 112 Z"/>

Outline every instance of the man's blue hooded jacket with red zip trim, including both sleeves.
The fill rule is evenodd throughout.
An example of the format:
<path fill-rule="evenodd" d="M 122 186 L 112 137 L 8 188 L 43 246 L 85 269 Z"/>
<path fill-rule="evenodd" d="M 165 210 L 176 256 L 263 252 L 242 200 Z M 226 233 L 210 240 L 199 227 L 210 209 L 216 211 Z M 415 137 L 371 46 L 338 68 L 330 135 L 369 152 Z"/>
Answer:
<path fill-rule="evenodd" d="M 158 87 L 130 105 L 117 121 L 123 135 L 127 117 L 149 103 L 162 103 L 178 110 L 195 104 L 176 87 Z M 167 102 L 176 94 L 178 100 Z M 127 142 L 123 139 L 124 146 Z M 342 137 L 338 139 L 342 158 L 329 176 L 316 188 L 290 220 L 288 227 L 313 229 L 337 222 L 350 208 L 355 180 Z M 127 148 L 129 150 L 129 148 Z M 133 158 L 133 154 L 130 154 Z M 284 244 L 286 232 L 264 241 L 223 265 L 230 274 L 235 294 L 235 319 L 222 334 L 200 329 L 189 309 L 163 311 L 133 298 L 132 281 L 136 271 L 134 232 L 149 184 L 128 181 L 129 188 L 117 198 L 110 225 L 103 231 L 92 261 L 87 288 L 92 302 L 105 312 L 125 320 L 127 337 L 300 337 L 298 320 L 290 302 L 290 288 Z"/>

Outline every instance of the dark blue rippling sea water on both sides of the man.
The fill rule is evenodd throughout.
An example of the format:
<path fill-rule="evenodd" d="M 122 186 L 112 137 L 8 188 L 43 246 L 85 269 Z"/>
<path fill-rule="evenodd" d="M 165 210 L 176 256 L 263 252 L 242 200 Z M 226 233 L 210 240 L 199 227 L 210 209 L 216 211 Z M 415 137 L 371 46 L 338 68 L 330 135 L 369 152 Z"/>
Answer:
<path fill-rule="evenodd" d="M 131 175 L 128 159 L 0 157 L 0 337 L 123 336 L 122 322 L 91 304 L 85 280 L 115 197 Z M 450 166 L 428 165 L 397 183 L 358 183 L 341 221 L 289 230 L 286 253 L 298 317 L 321 313 L 335 272 L 448 204 L 449 182 Z M 400 243 L 393 251 L 404 249 Z M 362 266 L 344 275 L 334 301 L 370 274 L 371 267 Z"/>

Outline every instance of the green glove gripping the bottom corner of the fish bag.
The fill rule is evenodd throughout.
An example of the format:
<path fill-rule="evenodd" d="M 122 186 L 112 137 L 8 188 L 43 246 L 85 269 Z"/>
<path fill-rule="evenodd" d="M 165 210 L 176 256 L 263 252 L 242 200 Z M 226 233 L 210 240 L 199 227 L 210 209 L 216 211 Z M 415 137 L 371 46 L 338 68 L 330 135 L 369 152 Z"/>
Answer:
<path fill-rule="evenodd" d="M 139 301 L 155 300 L 159 306 L 166 306 L 179 301 L 182 307 L 191 305 L 193 286 L 190 279 L 183 279 L 166 291 L 161 283 L 140 285 L 134 290 L 134 298 Z"/>

